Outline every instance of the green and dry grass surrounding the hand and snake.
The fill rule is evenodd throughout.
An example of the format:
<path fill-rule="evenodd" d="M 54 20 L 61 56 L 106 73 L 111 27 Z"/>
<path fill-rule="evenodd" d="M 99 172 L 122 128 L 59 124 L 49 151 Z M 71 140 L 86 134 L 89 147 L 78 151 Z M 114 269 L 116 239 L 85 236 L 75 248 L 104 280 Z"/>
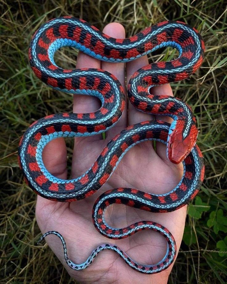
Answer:
<path fill-rule="evenodd" d="M 28 63 L 35 30 L 49 19 L 73 15 L 102 29 L 117 21 L 132 36 L 163 20 L 196 27 L 206 52 L 202 67 L 189 79 L 172 84 L 174 95 L 192 106 L 198 144 L 205 159 L 205 181 L 188 207 L 184 238 L 169 283 L 226 283 L 227 279 L 227 34 L 226 2 L 197 1 L 4 1 L 1 5 L 1 283 L 75 283 L 50 249 L 36 247 L 35 194 L 23 182 L 17 163 L 20 136 L 36 119 L 72 110 L 72 97 L 39 81 Z M 91 13 L 92 11 L 92 13 Z M 149 56 L 150 62 L 171 60 L 172 49 Z M 61 58 L 61 60 L 60 60 Z M 56 55 L 64 67 L 75 67 L 76 51 Z M 72 140 L 68 141 L 69 166 Z M 222 216 L 223 213 L 223 216 Z M 224 251 L 225 253 L 219 253 Z"/>

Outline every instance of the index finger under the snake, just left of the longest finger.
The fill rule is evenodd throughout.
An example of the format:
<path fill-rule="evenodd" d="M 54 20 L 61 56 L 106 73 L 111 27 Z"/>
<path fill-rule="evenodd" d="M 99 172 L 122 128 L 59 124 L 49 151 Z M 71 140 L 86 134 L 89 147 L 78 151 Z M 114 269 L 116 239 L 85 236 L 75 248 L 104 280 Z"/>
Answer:
<path fill-rule="evenodd" d="M 83 53 L 79 52 L 76 61 L 76 69 L 81 68 L 95 68 L 100 69 L 101 63 L 99 60 Z M 86 95 L 74 95 L 73 96 L 73 112 L 74 113 L 89 113 L 97 111 L 101 107 L 101 101 L 93 96 L 86 96 Z M 75 138 L 75 145 L 77 141 L 83 140 L 83 142 L 95 141 L 102 139 L 100 134 L 83 137 L 83 138 Z"/>

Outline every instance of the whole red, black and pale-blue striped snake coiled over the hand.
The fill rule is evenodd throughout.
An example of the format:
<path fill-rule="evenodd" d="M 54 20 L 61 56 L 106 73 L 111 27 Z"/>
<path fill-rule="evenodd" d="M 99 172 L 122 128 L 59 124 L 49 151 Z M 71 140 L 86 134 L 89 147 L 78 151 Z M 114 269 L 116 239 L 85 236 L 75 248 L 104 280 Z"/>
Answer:
<path fill-rule="evenodd" d="M 129 80 L 127 97 L 139 111 L 167 115 L 172 123 L 144 121 L 130 125 L 112 138 L 93 165 L 80 177 L 63 180 L 53 176 L 43 164 L 43 148 L 58 137 L 85 137 L 108 131 L 120 119 L 126 103 L 118 79 L 101 69 L 62 69 L 54 61 L 55 52 L 65 46 L 76 48 L 106 62 L 129 62 L 159 48 L 175 48 L 179 55 L 172 61 L 151 63 L 137 70 Z M 198 193 L 204 179 L 204 160 L 196 144 L 198 130 L 192 109 L 182 100 L 152 94 L 152 87 L 180 81 L 200 67 L 204 57 L 204 41 L 199 32 L 180 21 L 155 24 L 126 39 L 112 38 L 82 19 L 71 16 L 52 19 L 34 34 L 29 47 L 29 61 L 35 75 L 55 90 L 84 94 L 100 99 L 101 107 L 91 113 L 61 113 L 41 118 L 27 129 L 19 143 L 19 166 L 25 181 L 44 198 L 72 202 L 94 194 L 109 179 L 125 153 L 146 140 L 166 144 L 167 157 L 175 164 L 183 163 L 183 176 L 177 186 L 166 194 L 152 194 L 133 188 L 115 188 L 103 193 L 95 202 L 92 219 L 95 228 L 110 239 L 126 238 L 149 229 L 159 232 L 167 242 L 166 254 L 152 265 L 139 264 L 112 244 L 102 244 L 82 264 L 68 258 L 66 242 L 56 231 L 45 233 L 58 236 L 63 244 L 66 263 L 74 270 L 88 267 L 96 255 L 113 250 L 131 268 L 144 274 L 167 269 L 174 261 L 177 248 L 174 236 L 159 223 L 141 221 L 125 228 L 112 228 L 104 219 L 111 204 L 125 204 L 150 212 L 171 212 L 188 204 Z"/>

